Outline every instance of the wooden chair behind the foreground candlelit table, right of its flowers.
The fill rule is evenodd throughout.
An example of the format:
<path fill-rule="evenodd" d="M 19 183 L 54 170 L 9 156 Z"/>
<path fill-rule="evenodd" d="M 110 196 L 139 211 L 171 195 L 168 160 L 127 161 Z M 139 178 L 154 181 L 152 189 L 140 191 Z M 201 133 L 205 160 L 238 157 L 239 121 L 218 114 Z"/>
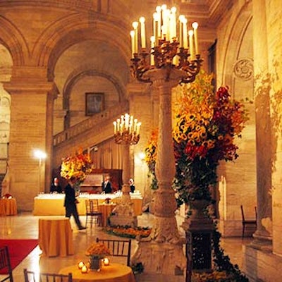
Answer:
<path fill-rule="evenodd" d="M 106 247 L 108 247 L 113 257 L 126 257 L 126 265 L 130 266 L 131 239 L 111 240 L 97 238 L 96 241 L 102 242 Z"/>

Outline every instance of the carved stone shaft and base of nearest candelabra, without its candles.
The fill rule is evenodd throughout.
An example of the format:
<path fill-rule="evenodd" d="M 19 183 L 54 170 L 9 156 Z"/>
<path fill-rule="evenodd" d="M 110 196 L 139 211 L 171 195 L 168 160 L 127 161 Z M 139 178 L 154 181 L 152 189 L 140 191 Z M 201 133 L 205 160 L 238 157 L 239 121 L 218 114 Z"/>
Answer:
<path fill-rule="evenodd" d="M 166 75 L 170 71 L 170 77 Z M 159 137 L 157 145 L 156 174 L 159 188 L 154 204 L 154 226 L 150 238 L 140 240 L 132 262 L 142 262 L 146 273 L 174 275 L 176 269 L 184 269 L 183 240 L 176 222 L 176 198 L 171 188 L 175 176 L 171 125 L 171 89 L 178 85 L 183 71 L 154 69 L 148 71 L 154 87 L 159 90 Z M 152 259 L 154 258 L 154 259 Z"/>

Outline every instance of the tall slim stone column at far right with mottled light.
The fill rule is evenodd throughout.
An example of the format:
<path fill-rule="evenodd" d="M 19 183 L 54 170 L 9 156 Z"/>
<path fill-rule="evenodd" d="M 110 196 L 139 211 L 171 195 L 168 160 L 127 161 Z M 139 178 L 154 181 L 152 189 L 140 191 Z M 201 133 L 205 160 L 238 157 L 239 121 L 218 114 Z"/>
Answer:
<path fill-rule="evenodd" d="M 266 6 L 264 0 L 252 1 L 252 29 L 255 42 L 255 119 L 257 146 L 257 231 L 255 238 L 271 239 L 271 115 L 269 54 L 267 47 Z"/>

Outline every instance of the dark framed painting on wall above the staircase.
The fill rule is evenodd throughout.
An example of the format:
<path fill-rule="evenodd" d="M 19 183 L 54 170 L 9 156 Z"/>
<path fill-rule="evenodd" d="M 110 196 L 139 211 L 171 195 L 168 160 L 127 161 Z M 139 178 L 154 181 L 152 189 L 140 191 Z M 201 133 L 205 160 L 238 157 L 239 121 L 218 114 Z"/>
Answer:
<path fill-rule="evenodd" d="M 104 111 L 104 93 L 85 93 L 85 116 L 92 116 Z"/>

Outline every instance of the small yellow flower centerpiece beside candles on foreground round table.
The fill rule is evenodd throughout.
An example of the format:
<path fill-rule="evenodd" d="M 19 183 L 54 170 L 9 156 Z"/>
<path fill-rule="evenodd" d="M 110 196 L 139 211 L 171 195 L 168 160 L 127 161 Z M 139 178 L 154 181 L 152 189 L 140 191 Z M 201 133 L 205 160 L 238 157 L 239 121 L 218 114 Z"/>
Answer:
<path fill-rule="evenodd" d="M 87 248 L 85 255 L 89 256 L 90 269 L 99 271 L 102 268 L 102 259 L 111 252 L 106 245 L 101 242 L 94 242 Z"/>

